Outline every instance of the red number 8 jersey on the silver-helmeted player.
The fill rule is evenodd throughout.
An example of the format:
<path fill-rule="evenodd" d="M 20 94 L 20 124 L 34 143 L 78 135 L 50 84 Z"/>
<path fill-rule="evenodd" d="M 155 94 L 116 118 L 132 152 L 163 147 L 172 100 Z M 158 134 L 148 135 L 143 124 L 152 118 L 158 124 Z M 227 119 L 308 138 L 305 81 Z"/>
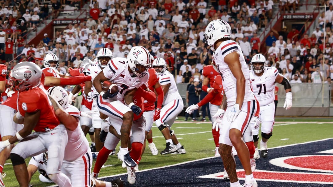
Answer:
<path fill-rule="evenodd" d="M 22 116 L 26 112 L 32 113 L 40 110 L 40 117 L 34 128 L 36 132 L 46 132 L 59 125 L 51 101 L 43 87 L 36 87 L 28 91 L 19 92 L 17 98 L 18 111 Z"/>

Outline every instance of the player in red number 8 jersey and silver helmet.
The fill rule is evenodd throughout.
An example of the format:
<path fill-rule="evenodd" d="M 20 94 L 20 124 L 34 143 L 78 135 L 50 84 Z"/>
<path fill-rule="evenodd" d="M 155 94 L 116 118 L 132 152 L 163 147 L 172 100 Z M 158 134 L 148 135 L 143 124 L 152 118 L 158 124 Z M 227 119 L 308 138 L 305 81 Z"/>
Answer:
<path fill-rule="evenodd" d="M 70 179 L 60 172 L 67 132 L 64 125 L 59 125 L 48 94 L 40 84 L 41 77 L 41 69 L 33 62 L 21 62 L 11 71 L 10 82 L 19 93 L 18 112 L 13 120 L 24 127 L 12 138 L 1 141 L 0 149 L 20 141 L 12 149 L 10 159 L 21 187 L 29 185 L 24 159 L 47 150 L 50 150 L 50 164 L 46 168 L 49 178 L 59 186 L 71 187 Z"/>

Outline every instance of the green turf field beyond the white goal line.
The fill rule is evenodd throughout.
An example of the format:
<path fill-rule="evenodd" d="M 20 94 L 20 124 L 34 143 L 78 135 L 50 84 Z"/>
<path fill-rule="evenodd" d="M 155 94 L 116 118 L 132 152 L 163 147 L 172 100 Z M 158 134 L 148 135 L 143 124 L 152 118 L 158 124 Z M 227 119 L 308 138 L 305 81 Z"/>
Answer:
<path fill-rule="evenodd" d="M 179 118 L 172 126 L 172 129 L 175 131 L 179 142 L 184 145 L 186 154 L 159 154 L 153 156 L 147 146 L 139 165 L 140 170 L 214 156 L 213 150 L 215 146 L 211 135 L 211 123 L 184 122 L 182 120 L 183 118 Z M 333 122 L 331 118 L 276 118 L 273 136 L 268 142 L 268 147 L 332 138 L 332 128 Z M 153 136 L 156 147 L 159 151 L 163 150 L 165 148 L 165 139 L 155 125 L 153 126 Z M 90 141 L 90 138 L 88 140 Z M 118 151 L 119 148 L 117 149 Z M 26 162 L 28 163 L 29 159 Z M 109 156 L 104 165 L 113 164 L 115 165 L 102 168 L 99 177 L 127 172 L 126 168 L 121 167 L 121 162 L 116 155 Z M 3 179 L 6 187 L 19 186 L 10 160 L 6 162 L 4 172 L 7 174 Z M 36 173 L 32 178 L 31 184 L 34 187 L 51 185 L 40 182 L 38 175 Z"/>

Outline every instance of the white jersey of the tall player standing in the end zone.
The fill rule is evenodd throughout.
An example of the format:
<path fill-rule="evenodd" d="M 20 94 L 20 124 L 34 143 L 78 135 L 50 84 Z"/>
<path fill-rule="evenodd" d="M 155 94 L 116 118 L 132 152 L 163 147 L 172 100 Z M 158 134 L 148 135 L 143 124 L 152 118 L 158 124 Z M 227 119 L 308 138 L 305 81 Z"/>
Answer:
<path fill-rule="evenodd" d="M 242 72 L 245 77 L 244 102 L 254 100 L 254 95 L 250 87 L 249 68 L 245 62 L 243 52 L 236 42 L 228 40 L 222 42 L 220 46 L 216 49 L 216 51 L 213 53 L 213 58 L 215 59 L 217 70 L 222 77 L 223 89 L 227 97 L 228 106 L 233 106 L 236 104 L 236 96 L 237 96 L 236 78 L 233 76 L 231 70 L 229 69 L 228 64 L 224 62 L 224 57 L 227 54 L 234 51 L 237 51 L 239 54 L 239 61 L 241 64 Z"/>

